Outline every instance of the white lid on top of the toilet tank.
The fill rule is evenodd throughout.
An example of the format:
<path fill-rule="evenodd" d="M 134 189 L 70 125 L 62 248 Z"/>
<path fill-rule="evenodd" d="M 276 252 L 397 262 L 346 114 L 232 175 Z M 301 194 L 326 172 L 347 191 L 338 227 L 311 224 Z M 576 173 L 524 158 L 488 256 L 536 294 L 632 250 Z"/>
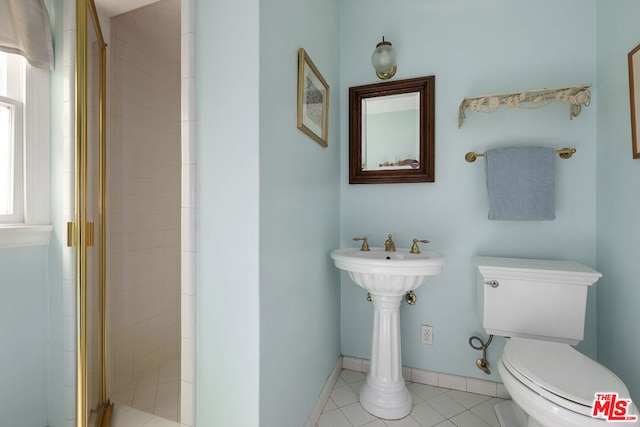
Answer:
<path fill-rule="evenodd" d="M 602 273 L 578 262 L 526 258 L 473 257 L 486 279 L 527 279 L 592 285 Z"/>

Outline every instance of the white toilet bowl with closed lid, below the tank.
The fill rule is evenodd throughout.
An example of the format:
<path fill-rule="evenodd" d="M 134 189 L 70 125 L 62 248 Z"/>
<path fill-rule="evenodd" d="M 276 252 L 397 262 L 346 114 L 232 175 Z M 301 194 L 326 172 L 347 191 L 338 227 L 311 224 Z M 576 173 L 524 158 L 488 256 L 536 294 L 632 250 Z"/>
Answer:
<path fill-rule="evenodd" d="M 510 414 L 518 413 L 517 408 L 496 407 L 503 426 L 603 427 L 609 422 L 592 416 L 596 393 L 629 399 L 629 391 L 613 372 L 568 344 L 508 339 L 498 371 L 513 399 L 507 405 L 518 405 L 526 413 L 513 420 Z M 632 404 L 627 415 L 637 414 Z"/>

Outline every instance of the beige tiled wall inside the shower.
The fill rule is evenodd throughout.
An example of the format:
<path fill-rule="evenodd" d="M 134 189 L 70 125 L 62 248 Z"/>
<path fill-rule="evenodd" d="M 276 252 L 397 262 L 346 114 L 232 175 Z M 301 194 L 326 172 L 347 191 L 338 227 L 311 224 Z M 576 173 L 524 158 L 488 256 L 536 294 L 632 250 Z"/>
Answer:
<path fill-rule="evenodd" d="M 111 378 L 180 352 L 180 1 L 112 18 L 108 154 Z"/>

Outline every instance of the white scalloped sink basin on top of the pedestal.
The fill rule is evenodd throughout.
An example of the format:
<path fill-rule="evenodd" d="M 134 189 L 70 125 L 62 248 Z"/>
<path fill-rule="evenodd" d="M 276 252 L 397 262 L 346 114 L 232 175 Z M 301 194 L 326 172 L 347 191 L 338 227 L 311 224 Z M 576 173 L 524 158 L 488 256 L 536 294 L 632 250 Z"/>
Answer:
<path fill-rule="evenodd" d="M 386 252 L 384 248 L 343 248 L 331 252 L 336 267 L 349 272 L 351 280 L 371 293 L 403 295 L 418 288 L 428 276 L 442 271 L 444 257 L 430 251 L 409 253 L 407 248 Z"/>

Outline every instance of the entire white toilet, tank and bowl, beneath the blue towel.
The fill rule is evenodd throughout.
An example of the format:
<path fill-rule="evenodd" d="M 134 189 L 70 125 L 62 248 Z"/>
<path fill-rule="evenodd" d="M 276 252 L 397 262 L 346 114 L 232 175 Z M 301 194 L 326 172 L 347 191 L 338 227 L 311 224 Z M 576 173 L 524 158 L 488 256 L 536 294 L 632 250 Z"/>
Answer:
<path fill-rule="evenodd" d="M 500 425 L 611 425 L 604 407 L 592 416 L 596 393 L 617 393 L 621 401 L 630 399 L 629 391 L 572 347 L 584 336 L 589 286 L 602 274 L 569 261 L 475 257 L 474 263 L 482 325 L 506 338 L 498 372 L 512 400 L 495 407 Z M 623 406 L 626 417 L 638 417 L 633 402 Z M 617 425 L 638 427 L 640 421 Z"/>

